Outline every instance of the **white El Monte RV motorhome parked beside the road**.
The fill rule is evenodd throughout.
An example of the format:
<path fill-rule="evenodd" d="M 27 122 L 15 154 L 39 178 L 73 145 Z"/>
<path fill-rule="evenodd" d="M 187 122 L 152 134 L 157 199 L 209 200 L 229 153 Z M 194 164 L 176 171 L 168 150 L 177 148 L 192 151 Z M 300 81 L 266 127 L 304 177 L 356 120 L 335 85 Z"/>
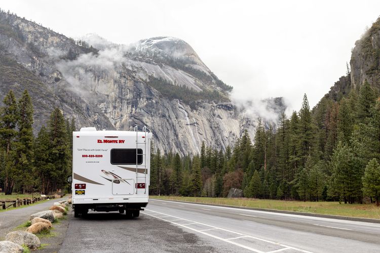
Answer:
<path fill-rule="evenodd" d="M 138 217 L 148 203 L 151 133 L 96 131 L 72 133 L 74 217 L 89 209 Z"/>

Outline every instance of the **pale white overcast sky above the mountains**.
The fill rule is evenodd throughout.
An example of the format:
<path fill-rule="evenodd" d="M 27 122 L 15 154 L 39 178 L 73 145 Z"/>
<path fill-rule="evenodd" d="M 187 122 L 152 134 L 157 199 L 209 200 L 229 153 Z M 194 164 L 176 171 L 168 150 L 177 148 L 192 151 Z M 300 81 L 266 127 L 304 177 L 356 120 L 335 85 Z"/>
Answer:
<path fill-rule="evenodd" d="M 118 44 L 173 36 L 190 44 L 242 100 L 285 97 L 313 107 L 346 74 L 380 1 L 16 1 L 0 8 L 70 37 Z"/>

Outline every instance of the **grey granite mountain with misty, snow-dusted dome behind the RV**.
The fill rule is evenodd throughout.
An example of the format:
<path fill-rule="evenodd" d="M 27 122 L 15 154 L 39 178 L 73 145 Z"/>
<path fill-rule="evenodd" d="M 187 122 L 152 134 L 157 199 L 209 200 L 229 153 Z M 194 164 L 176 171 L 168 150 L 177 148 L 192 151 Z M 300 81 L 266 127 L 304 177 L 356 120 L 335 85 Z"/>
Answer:
<path fill-rule="evenodd" d="M 39 130 L 58 106 L 78 128 L 153 132 L 164 152 L 197 154 L 202 141 L 225 149 L 255 117 L 231 102 L 227 86 L 185 41 L 172 37 L 129 46 L 91 35 L 74 41 L 16 15 L 0 13 L 0 96 L 27 89 Z M 268 112 L 283 108 L 267 101 Z"/>

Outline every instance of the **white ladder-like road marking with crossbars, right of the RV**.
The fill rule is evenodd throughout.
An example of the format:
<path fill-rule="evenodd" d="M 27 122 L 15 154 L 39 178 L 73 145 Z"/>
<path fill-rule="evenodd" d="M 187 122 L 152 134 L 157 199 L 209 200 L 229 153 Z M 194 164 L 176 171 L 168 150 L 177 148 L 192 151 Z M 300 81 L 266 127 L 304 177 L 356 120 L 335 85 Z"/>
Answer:
<path fill-rule="evenodd" d="M 253 252 L 257 252 L 257 253 L 269 253 L 269 252 L 264 252 L 264 251 L 261 251 L 259 249 L 256 249 L 256 248 L 253 248 L 253 247 L 249 247 L 249 246 L 246 246 L 244 244 L 241 244 L 241 243 L 233 241 L 233 239 L 237 239 L 238 237 L 234 237 L 234 238 L 230 238 L 230 239 L 225 239 L 225 238 L 213 235 L 213 234 L 209 234 L 209 233 L 207 233 L 207 231 L 211 230 L 211 229 L 215 229 L 215 230 L 217 229 L 217 230 L 222 230 L 222 231 L 225 231 L 225 232 L 230 232 L 230 233 L 237 234 L 237 235 L 239 235 L 239 238 L 243 238 L 243 237 L 244 238 L 251 238 L 251 239 L 255 239 L 255 240 L 259 240 L 259 241 L 268 242 L 270 244 L 283 246 L 283 248 L 280 248 L 280 249 L 277 249 L 277 250 L 274 250 L 274 251 L 270 251 L 270 252 L 279 252 L 279 251 L 286 250 L 286 249 L 293 249 L 293 250 L 300 251 L 300 252 L 312 253 L 310 251 L 303 250 L 303 249 L 300 249 L 300 248 L 292 247 L 292 246 L 281 244 L 281 243 L 278 243 L 278 242 L 273 242 L 273 241 L 270 241 L 270 240 L 265 240 L 265 239 L 257 238 L 257 237 L 250 236 L 250 235 L 245 235 L 245 234 L 242 234 L 242 233 L 234 232 L 234 231 L 227 230 L 227 229 L 224 229 L 224 228 L 215 227 L 215 226 L 212 226 L 212 225 L 207 225 L 207 224 L 200 223 L 200 222 L 195 222 L 195 221 L 183 219 L 183 218 L 180 218 L 180 217 L 177 217 L 177 216 L 167 215 L 167 214 L 164 214 L 164 213 L 156 212 L 156 211 L 151 210 L 151 209 L 145 209 L 145 210 L 148 210 L 150 212 L 155 212 L 157 214 L 165 215 L 165 216 L 168 216 L 168 217 L 173 217 L 173 218 L 176 218 L 178 220 L 188 221 L 189 223 L 187 223 L 187 224 L 179 224 L 179 223 L 174 222 L 174 220 L 166 220 L 166 219 L 163 219 L 163 218 L 158 217 L 158 216 L 154 216 L 154 215 L 151 215 L 151 214 L 143 213 L 144 215 L 151 216 L 151 217 L 154 217 L 154 218 L 166 221 L 166 222 L 170 222 L 170 223 L 175 224 L 177 226 L 184 227 L 184 228 L 187 228 L 189 230 L 193 230 L 193 231 L 195 231 L 197 233 L 204 234 L 204 235 L 207 235 L 209 237 L 212 237 L 212 238 L 215 238 L 215 239 L 227 242 L 227 243 L 231 243 L 233 245 L 236 245 L 236 246 L 239 246 L 239 247 L 251 250 Z M 203 225 L 203 226 L 206 226 L 206 227 L 210 227 L 210 229 L 198 230 L 198 229 L 195 229 L 195 228 L 192 228 L 192 227 L 188 226 L 188 225 L 192 225 L 192 224 Z"/>

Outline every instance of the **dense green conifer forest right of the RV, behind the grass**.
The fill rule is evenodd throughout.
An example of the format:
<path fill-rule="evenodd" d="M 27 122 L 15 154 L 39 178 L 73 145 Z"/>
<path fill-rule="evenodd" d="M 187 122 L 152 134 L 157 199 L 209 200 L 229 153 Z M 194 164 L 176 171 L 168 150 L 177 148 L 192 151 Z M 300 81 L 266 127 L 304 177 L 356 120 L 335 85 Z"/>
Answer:
<path fill-rule="evenodd" d="M 310 109 L 280 115 L 276 130 L 257 120 L 234 147 L 200 156 L 151 155 L 151 194 L 225 197 L 234 187 L 245 197 L 362 203 L 380 198 L 380 100 L 365 81 L 339 101 L 325 96 Z M 180 160 L 180 161 L 179 161 Z M 180 164 L 180 166 L 179 166 Z"/>

